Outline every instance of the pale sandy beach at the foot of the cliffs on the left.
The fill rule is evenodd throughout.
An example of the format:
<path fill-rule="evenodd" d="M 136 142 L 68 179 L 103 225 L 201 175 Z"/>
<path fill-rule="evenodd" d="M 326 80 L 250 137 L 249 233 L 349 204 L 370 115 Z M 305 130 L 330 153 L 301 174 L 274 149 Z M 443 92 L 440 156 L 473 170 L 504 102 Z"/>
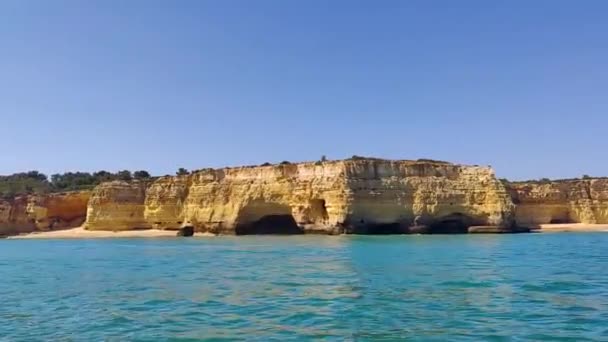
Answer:
<path fill-rule="evenodd" d="M 175 237 L 174 230 L 126 230 L 126 231 L 106 231 L 106 230 L 86 230 L 82 227 L 55 230 L 49 232 L 34 232 L 16 236 L 9 236 L 8 239 L 97 239 L 97 238 L 162 238 Z M 194 236 L 214 236 L 213 234 L 196 233 Z"/>

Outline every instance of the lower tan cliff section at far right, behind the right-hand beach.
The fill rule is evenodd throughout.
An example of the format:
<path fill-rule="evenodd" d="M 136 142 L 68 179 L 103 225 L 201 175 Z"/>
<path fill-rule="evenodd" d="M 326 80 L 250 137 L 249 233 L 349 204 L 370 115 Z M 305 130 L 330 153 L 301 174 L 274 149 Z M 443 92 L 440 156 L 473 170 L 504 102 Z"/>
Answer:
<path fill-rule="evenodd" d="M 608 223 L 608 179 L 508 185 L 519 224 Z"/>

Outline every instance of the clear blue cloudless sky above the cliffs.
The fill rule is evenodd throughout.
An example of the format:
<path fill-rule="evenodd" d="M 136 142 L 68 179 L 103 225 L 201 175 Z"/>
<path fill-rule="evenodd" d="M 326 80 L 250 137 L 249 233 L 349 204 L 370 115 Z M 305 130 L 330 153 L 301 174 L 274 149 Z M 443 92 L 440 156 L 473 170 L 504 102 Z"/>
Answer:
<path fill-rule="evenodd" d="M 0 2 L 0 174 L 353 154 L 608 175 L 608 1 Z"/>

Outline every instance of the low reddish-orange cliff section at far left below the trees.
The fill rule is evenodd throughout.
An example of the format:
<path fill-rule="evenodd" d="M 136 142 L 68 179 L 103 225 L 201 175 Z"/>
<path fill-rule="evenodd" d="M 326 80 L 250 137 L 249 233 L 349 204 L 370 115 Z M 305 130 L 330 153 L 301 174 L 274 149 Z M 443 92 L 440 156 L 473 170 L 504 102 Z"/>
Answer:
<path fill-rule="evenodd" d="M 90 191 L 0 199 L 0 235 L 78 227 L 86 219 Z"/>

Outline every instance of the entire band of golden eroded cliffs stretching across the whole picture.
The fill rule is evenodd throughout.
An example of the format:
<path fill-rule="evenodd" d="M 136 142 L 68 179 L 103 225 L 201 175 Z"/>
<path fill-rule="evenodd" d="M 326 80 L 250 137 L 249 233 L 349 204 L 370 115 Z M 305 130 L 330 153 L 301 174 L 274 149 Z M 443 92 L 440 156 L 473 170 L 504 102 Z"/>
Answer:
<path fill-rule="evenodd" d="M 83 222 L 90 230 L 237 235 L 505 233 L 608 223 L 608 179 L 503 184 L 488 167 L 350 159 L 205 169 L 0 199 L 0 236 Z"/>

